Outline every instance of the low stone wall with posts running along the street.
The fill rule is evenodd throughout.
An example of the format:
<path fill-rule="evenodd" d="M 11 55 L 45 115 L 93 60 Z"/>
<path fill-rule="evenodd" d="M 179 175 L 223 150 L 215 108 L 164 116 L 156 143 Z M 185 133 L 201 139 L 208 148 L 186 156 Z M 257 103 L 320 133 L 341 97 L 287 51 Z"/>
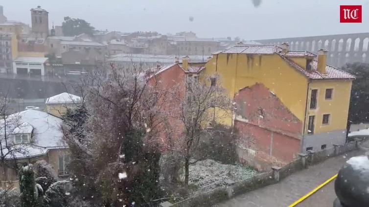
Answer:
<path fill-rule="evenodd" d="M 180 202 L 170 204 L 163 203 L 162 207 L 197 207 L 211 206 L 212 204 L 230 199 L 233 196 L 255 190 L 279 182 L 294 172 L 308 168 L 309 165 L 320 163 L 330 157 L 338 156 L 346 152 L 358 149 L 358 141 L 346 143 L 345 145 L 333 145 L 331 148 L 323 149 L 319 152 L 309 151 L 307 154 L 300 153 L 298 159 L 285 166 L 273 166 L 271 171 L 254 175 L 251 178 L 233 182 L 225 181 L 226 185 L 221 186 Z"/>

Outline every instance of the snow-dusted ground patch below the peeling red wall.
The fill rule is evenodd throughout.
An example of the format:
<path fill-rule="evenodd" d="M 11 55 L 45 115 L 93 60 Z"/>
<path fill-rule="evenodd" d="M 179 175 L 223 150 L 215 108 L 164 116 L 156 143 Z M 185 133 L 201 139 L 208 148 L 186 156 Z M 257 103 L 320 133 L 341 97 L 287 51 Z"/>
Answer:
<path fill-rule="evenodd" d="M 224 165 L 213 160 L 204 160 L 189 166 L 189 184 L 198 186 L 198 192 L 203 192 L 225 185 L 227 179 L 239 181 L 256 173 L 248 166 Z"/>

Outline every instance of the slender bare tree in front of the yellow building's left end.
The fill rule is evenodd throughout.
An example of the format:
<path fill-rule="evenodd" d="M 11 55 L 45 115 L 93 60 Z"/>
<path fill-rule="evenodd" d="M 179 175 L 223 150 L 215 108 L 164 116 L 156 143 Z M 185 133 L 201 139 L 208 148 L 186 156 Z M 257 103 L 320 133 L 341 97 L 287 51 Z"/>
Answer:
<path fill-rule="evenodd" d="M 209 126 L 227 117 L 231 110 L 228 93 L 219 84 L 214 84 L 215 80 L 205 77 L 204 82 L 188 81 L 185 90 L 183 84 L 178 84 L 173 90 L 176 104 L 171 109 L 171 117 L 182 125 L 183 132 L 177 133 L 171 149 L 177 151 L 184 160 L 185 185 L 188 185 L 189 165 L 205 158 L 195 159 L 194 156 L 200 146 L 201 135 L 213 133 Z"/>

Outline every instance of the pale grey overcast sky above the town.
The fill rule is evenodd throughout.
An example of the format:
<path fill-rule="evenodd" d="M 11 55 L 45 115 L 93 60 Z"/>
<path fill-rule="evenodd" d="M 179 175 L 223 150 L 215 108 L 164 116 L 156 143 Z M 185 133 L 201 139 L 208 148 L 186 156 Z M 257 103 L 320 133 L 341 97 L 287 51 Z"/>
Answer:
<path fill-rule="evenodd" d="M 363 23 L 339 23 L 339 6 L 363 5 Z M 368 0 L 1 0 L 8 20 L 30 24 L 41 5 L 49 24 L 84 19 L 97 29 L 121 32 L 192 31 L 198 37 L 246 40 L 369 32 Z M 190 21 L 193 17 L 193 21 Z"/>

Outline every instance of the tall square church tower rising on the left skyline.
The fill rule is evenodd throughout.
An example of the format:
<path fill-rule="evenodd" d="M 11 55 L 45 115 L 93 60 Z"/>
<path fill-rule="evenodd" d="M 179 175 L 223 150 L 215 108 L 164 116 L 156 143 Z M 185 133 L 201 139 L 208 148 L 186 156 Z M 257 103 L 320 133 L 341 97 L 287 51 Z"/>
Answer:
<path fill-rule="evenodd" d="M 32 35 L 35 38 L 46 38 L 48 36 L 48 12 L 37 6 L 31 9 Z"/>

